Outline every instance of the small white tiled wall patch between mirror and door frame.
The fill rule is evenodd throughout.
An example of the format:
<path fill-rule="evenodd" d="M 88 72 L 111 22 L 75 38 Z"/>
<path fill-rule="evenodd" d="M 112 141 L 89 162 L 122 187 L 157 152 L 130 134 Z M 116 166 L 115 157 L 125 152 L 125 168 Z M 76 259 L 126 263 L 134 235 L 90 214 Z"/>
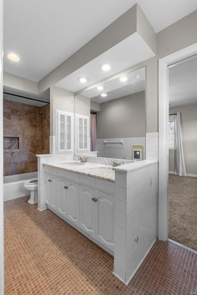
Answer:
<path fill-rule="evenodd" d="M 158 161 L 159 133 L 146 133 L 146 159 Z"/>

